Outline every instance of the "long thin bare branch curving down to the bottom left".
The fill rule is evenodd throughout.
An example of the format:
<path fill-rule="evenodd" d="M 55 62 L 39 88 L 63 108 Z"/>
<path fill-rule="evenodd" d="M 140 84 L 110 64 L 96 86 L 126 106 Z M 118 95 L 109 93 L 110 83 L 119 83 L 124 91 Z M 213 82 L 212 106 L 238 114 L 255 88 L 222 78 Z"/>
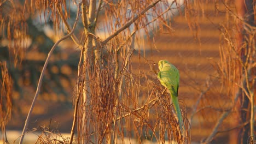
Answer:
<path fill-rule="evenodd" d="M 62 37 L 60 40 L 58 40 L 54 46 L 51 48 L 50 52 L 48 53 L 48 57 L 46 58 L 45 60 L 45 63 L 44 63 L 44 67 L 42 69 L 42 72 L 41 72 L 41 75 L 40 75 L 40 78 L 39 78 L 39 81 L 38 81 L 38 86 L 37 86 L 37 91 L 36 91 L 36 94 L 34 95 L 34 99 L 32 101 L 32 104 L 31 104 L 31 107 L 30 107 L 30 111 L 28 112 L 27 114 L 27 118 L 26 118 L 26 121 L 25 121 L 25 125 L 24 125 L 24 129 L 22 130 L 22 134 L 21 134 L 21 137 L 20 137 L 20 144 L 23 142 L 23 139 L 24 139 L 24 136 L 25 136 L 25 131 L 27 129 L 27 126 L 28 126 L 28 122 L 30 121 L 30 116 L 31 116 L 31 113 L 33 111 L 33 108 L 34 108 L 34 105 L 36 103 L 36 100 L 37 100 L 37 97 L 38 97 L 38 94 L 40 92 L 40 87 L 42 85 L 42 80 L 43 80 L 43 76 L 44 76 L 44 71 L 48 65 L 48 62 L 50 60 L 50 57 L 51 57 L 51 54 L 53 53 L 53 51 L 55 50 L 55 48 L 57 47 L 57 45 L 59 45 L 61 43 L 61 41 L 71 37 L 71 35 L 74 33 L 74 29 L 75 27 L 77 26 L 77 22 L 79 20 L 79 13 L 80 13 L 80 4 L 78 4 L 78 10 L 77 10 L 77 16 L 75 18 L 75 22 L 74 22 L 74 26 L 73 26 L 73 29 L 72 31 L 65 35 L 64 37 Z"/>

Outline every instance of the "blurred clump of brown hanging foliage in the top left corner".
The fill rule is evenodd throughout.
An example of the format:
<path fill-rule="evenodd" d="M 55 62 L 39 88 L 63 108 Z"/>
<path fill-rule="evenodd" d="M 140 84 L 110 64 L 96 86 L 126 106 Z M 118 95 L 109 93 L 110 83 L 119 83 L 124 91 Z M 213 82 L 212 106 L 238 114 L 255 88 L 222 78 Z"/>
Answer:
<path fill-rule="evenodd" d="M 22 14 L 22 5 L 14 1 L 0 2 L 0 38 L 9 40 L 9 55 L 14 65 L 24 58 L 25 38 L 27 37 L 28 15 Z"/>

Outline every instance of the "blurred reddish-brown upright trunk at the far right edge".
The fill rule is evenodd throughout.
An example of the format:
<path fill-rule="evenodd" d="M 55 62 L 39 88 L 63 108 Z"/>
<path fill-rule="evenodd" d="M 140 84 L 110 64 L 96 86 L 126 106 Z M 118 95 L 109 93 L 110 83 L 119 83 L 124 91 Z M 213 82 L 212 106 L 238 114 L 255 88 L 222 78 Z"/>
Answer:
<path fill-rule="evenodd" d="M 246 51 L 248 51 L 249 47 L 248 45 L 243 46 L 243 44 L 247 43 L 245 37 L 246 37 L 246 31 L 245 31 L 245 23 L 248 23 L 249 25 L 253 26 L 254 23 L 254 13 L 253 13 L 253 0 L 236 0 L 236 10 L 237 10 L 237 16 L 239 19 L 237 19 L 237 35 L 236 35 L 236 46 L 237 49 L 241 49 L 240 57 L 243 63 L 246 62 Z M 242 21 L 243 20 L 243 21 Z M 246 71 L 248 69 L 245 69 L 244 67 L 240 68 L 241 75 L 245 75 Z M 248 77 L 245 77 L 241 80 L 241 85 L 244 88 L 239 88 L 237 93 L 240 95 L 238 98 L 238 102 L 236 104 L 237 115 L 236 115 L 236 121 L 233 123 L 233 127 L 237 127 L 237 125 L 244 124 L 249 121 L 250 117 L 253 118 L 253 115 L 251 115 L 251 102 L 247 95 L 245 94 L 245 91 L 247 93 L 249 92 L 248 87 L 246 86 L 246 79 Z M 253 100 L 252 100 L 253 101 Z M 254 123 L 251 121 L 251 127 L 254 125 Z M 241 129 L 233 130 L 230 133 L 230 143 L 248 143 L 248 140 L 252 136 L 253 138 L 253 129 L 251 129 L 250 133 L 250 123 L 246 124 L 245 127 L 242 127 Z M 234 139 L 237 137 L 237 139 Z"/>

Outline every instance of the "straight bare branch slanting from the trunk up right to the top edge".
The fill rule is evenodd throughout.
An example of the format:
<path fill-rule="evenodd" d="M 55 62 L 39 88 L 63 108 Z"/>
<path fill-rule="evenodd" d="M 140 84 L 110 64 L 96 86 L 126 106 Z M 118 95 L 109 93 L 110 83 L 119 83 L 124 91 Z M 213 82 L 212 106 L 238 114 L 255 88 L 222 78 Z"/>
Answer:
<path fill-rule="evenodd" d="M 155 2 L 153 2 L 153 3 L 151 3 L 151 4 L 149 4 L 148 7 L 145 8 L 144 10 L 142 10 L 140 14 L 134 16 L 131 20 L 127 21 L 123 27 L 119 28 L 119 29 L 118 29 L 117 31 L 115 31 L 112 35 L 109 35 L 109 37 L 106 38 L 104 41 L 102 41 L 102 43 L 103 43 L 103 44 L 108 43 L 108 41 L 109 41 L 110 39 L 114 38 L 114 37 L 115 37 L 116 35 L 118 35 L 120 32 L 124 31 L 124 29 L 128 28 L 129 26 L 131 26 L 131 24 L 132 24 L 133 22 L 135 22 L 136 20 L 138 20 L 140 16 L 142 16 L 143 14 L 145 14 L 150 8 L 154 7 L 154 6 L 155 6 L 158 2 L 160 2 L 160 1 L 161 1 L 161 0 L 158 0 L 158 1 L 155 1 Z"/>

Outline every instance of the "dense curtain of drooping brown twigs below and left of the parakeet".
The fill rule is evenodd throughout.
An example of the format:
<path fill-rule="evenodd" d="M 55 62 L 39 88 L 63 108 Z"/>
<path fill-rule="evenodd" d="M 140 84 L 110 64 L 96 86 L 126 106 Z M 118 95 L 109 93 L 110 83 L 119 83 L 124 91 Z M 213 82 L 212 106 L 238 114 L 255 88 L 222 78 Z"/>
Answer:
<path fill-rule="evenodd" d="M 86 62 L 80 69 L 74 96 L 80 99 L 78 141 L 113 143 L 118 139 L 125 142 L 125 137 L 136 137 L 139 142 L 143 139 L 165 142 L 167 139 L 189 143 L 185 112 L 183 118 L 187 131 L 181 134 L 170 95 L 156 79 L 155 69 L 136 74 L 137 70 L 133 72 L 131 67 L 133 50 L 120 51 L 123 56 L 119 57 L 119 65 L 115 63 L 115 53 L 108 52 L 105 57 L 107 63 L 96 61 L 90 65 Z M 118 71 L 116 67 L 119 67 Z M 85 99 L 82 88 L 86 73 L 88 87 Z M 148 75 L 154 78 L 149 79 Z"/>

